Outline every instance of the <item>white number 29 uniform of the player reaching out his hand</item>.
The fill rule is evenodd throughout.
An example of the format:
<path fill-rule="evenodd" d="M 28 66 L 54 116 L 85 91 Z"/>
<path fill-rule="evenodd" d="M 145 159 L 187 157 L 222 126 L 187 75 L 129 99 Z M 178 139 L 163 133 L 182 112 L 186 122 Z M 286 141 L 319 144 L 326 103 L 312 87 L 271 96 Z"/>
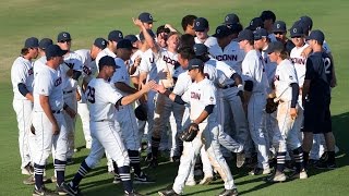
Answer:
<path fill-rule="evenodd" d="M 121 139 L 121 131 L 115 125 L 115 103 L 122 98 L 116 87 L 103 78 L 93 78 L 87 86 L 86 98 L 89 109 L 92 148 L 85 159 L 89 168 L 95 168 L 105 150 L 118 167 L 130 166 L 128 150 Z"/>

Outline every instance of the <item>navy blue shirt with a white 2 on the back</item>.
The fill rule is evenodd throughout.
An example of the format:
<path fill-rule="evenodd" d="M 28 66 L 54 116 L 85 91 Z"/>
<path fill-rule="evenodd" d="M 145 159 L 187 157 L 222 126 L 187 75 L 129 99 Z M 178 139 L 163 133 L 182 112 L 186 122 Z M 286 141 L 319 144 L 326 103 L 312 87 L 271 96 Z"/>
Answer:
<path fill-rule="evenodd" d="M 324 102 L 330 99 L 333 61 L 326 52 L 314 52 L 306 59 L 305 79 L 310 79 L 309 99 Z"/>

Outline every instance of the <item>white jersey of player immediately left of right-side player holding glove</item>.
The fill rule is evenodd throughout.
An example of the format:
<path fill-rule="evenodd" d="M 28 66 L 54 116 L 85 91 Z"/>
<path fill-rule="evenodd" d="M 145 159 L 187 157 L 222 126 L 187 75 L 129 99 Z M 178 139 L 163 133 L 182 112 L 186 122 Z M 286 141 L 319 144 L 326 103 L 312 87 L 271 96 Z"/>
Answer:
<path fill-rule="evenodd" d="M 252 93 L 266 93 L 268 82 L 264 73 L 264 63 L 261 52 L 250 50 L 242 61 L 242 78 L 243 81 L 252 81 Z"/>

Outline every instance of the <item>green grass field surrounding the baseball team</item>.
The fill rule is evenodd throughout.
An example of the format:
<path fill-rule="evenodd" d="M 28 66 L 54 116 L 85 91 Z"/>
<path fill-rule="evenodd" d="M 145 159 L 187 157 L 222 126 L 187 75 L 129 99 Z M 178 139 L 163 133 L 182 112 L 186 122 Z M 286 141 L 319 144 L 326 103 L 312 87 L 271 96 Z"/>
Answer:
<path fill-rule="evenodd" d="M 349 21 L 347 0 L 317 1 L 273 1 L 273 0 L 191 0 L 191 1 L 83 1 L 83 0 L 12 0 L 0 2 L 0 195 L 31 195 L 33 186 L 22 184 L 24 175 L 20 172 L 17 147 L 17 127 L 12 108 L 12 86 L 10 68 L 20 54 L 24 40 L 35 36 L 50 37 L 56 40 L 59 32 L 68 30 L 73 38 L 73 49 L 89 48 L 96 37 L 107 37 L 111 29 L 122 29 L 124 35 L 137 33 L 131 17 L 142 11 L 153 13 L 158 25 L 169 23 L 180 29 L 180 21 L 185 14 L 205 16 L 210 22 L 212 33 L 227 13 L 239 14 L 244 25 L 260 15 L 263 10 L 273 10 L 277 20 L 282 20 L 288 27 L 301 15 L 310 15 L 314 29 L 325 32 L 334 58 L 338 86 L 333 90 L 333 126 L 340 152 L 337 156 L 338 169 L 333 171 L 312 170 L 304 181 L 291 181 L 281 184 L 266 184 L 258 176 L 249 176 L 246 170 L 232 168 L 236 183 L 241 195 L 348 195 L 349 193 Z M 84 145 L 81 123 L 77 121 L 76 145 Z M 80 162 L 88 151 L 82 149 L 75 154 L 75 164 L 67 168 L 67 179 L 71 180 Z M 81 188 L 85 195 L 122 195 L 121 185 L 113 185 L 112 176 L 107 174 L 106 160 L 83 180 Z M 52 175 L 52 166 L 48 166 L 48 176 Z M 173 182 L 177 166 L 164 163 L 156 171 L 148 171 L 157 179 L 153 185 L 137 185 L 143 194 L 157 195 L 157 191 Z M 53 184 L 47 185 L 53 188 Z M 185 195 L 217 195 L 222 189 L 222 182 L 216 181 L 208 186 L 185 187 Z"/>

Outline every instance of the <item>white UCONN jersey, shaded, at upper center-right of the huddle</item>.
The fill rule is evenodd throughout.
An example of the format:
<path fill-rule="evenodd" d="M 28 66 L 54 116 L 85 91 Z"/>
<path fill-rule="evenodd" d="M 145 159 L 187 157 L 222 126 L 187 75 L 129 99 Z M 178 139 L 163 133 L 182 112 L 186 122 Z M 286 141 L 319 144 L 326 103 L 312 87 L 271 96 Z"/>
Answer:
<path fill-rule="evenodd" d="M 224 49 L 219 47 L 219 54 L 215 59 L 227 63 L 236 72 L 241 73 L 241 63 L 244 59 L 244 51 L 240 49 L 237 41 L 231 41 Z"/>

